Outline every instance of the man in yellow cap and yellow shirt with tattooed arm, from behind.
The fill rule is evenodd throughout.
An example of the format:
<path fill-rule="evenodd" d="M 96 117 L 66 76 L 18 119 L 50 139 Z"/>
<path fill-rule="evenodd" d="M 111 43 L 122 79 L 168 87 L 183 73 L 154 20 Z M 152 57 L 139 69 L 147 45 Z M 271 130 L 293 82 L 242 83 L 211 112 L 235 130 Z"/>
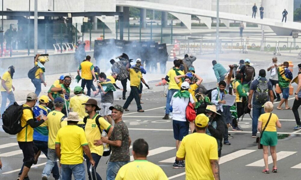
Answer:
<path fill-rule="evenodd" d="M 176 160 L 185 160 L 186 180 L 219 180 L 217 142 L 206 134 L 209 118 L 199 114 L 195 118 L 196 133 L 185 136 L 177 151 Z"/>

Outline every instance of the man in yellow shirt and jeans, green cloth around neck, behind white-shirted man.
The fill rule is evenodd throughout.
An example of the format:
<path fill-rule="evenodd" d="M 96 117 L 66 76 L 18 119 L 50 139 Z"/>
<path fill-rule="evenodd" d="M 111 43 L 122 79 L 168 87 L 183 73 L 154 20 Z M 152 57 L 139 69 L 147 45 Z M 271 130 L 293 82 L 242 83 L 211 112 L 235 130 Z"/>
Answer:
<path fill-rule="evenodd" d="M 170 101 L 172 98 L 172 95 L 180 90 L 180 87 L 178 87 L 178 84 L 175 82 L 175 76 L 178 75 L 184 75 L 184 72 L 180 70 L 180 62 L 174 61 L 175 67 L 170 69 L 165 77 L 165 80 L 169 82 L 169 87 L 168 87 L 168 93 L 166 96 L 166 109 L 165 109 L 165 116 L 162 119 L 169 119 L 168 114 L 169 114 L 169 108 L 170 108 Z M 182 79 L 180 79 L 182 82 Z M 183 80 L 184 81 L 184 80 Z"/>

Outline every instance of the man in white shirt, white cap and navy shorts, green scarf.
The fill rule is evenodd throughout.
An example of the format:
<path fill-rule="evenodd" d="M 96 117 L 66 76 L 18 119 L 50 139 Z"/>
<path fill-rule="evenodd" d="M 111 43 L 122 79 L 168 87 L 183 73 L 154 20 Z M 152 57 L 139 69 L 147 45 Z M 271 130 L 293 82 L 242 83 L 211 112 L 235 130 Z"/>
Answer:
<path fill-rule="evenodd" d="M 170 105 L 172 106 L 173 137 L 175 139 L 177 150 L 182 142 L 183 137 L 189 133 L 189 123 L 186 120 L 186 107 L 188 106 L 189 102 L 191 102 L 193 107 L 195 106 L 195 102 L 191 93 L 188 92 L 188 89 L 189 83 L 183 82 L 181 85 L 181 90 L 175 92 L 170 101 Z M 185 168 L 185 163 L 183 161 L 175 160 L 172 168 Z"/>

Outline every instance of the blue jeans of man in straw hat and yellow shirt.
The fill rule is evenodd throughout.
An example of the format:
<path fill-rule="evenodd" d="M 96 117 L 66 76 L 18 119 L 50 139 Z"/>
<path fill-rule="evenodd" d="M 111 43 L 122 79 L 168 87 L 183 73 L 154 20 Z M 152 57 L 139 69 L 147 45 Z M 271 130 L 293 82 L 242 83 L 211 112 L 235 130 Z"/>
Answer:
<path fill-rule="evenodd" d="M 61 164 L 62 165 L 62 179 L 71 180 L 72 174 L 74 180 L 85 180 L 85 165 L 81 164 Z"/>

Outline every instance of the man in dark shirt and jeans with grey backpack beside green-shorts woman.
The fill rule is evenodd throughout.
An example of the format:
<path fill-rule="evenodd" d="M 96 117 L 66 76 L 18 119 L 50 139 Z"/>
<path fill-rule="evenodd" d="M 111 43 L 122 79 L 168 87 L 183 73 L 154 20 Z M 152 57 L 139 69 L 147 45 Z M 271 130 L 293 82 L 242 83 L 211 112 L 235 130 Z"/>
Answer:
<path fill-rule="evenodd" d="M 253 96 L 254 94 L 254 96 Z M 253 97 L 253 103 L 251 100 Z M 251 83 L 250 94 L 248 98 L 248 107 L 253 107 L 253 119 L 252 119 L 252 137 L 256 138 L 258 118 L 261 114 L 264 114 L 264 103 L 267 101 L 273 102 L 273 85 L 265 78 L 265 70 L 259 70 L 259 77 Z"/>

